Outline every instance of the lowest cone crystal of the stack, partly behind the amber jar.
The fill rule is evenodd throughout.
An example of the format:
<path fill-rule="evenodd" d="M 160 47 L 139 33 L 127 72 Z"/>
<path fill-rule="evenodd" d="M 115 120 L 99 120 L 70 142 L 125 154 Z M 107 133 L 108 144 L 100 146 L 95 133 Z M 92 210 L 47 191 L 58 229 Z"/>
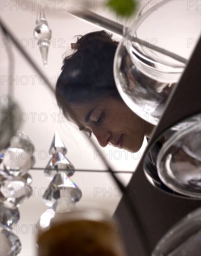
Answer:
<path fill-rule="evenodd" d="M 75 206 L 74 202 L 66 198 L 57 199 L 54 204 L 40 216 L 40 220 L 36 224 L 36 230 L 40 232 L 46 231 L 50 220 L 54 218 L 56 213 L 75 210 L 78 210 L 78 208 Z"/>

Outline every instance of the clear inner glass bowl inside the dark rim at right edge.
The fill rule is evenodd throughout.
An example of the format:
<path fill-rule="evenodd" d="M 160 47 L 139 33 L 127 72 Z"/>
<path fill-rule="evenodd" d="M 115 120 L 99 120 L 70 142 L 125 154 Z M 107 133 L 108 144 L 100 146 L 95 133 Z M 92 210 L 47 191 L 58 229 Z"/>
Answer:
<path fill-rule="evenodd" d="M 201 121 L 175 132 L 161 148 L 156 164 L 168 188 L 201 198 Z"/>

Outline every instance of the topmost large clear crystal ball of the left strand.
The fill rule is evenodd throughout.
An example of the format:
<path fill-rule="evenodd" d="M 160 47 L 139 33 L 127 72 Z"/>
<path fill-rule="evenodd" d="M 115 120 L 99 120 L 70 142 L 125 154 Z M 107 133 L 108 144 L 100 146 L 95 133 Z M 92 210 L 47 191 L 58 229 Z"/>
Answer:
<path fill-rule="evenodd" d="M 34 164 L 33 144 L 31 141 L 13 136 L 10 147 L 2 150 L 3 160 L 1 166 L 7 175 L 24 175 Z"/>

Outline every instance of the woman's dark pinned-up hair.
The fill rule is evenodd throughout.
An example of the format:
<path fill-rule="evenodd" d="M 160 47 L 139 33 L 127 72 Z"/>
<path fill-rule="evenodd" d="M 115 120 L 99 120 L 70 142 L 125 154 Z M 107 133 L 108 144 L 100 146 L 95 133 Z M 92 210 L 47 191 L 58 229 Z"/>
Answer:
<path fill-rule="evenodd" d="M 117 46 L 112 34 L 104 30 L 88 33 L 77 40 L 74 53 L 63 60 L 55 96 L 67 119 L 71 104 L 87 103 L 100 96 L 121 99 L 113 74 Z"/>

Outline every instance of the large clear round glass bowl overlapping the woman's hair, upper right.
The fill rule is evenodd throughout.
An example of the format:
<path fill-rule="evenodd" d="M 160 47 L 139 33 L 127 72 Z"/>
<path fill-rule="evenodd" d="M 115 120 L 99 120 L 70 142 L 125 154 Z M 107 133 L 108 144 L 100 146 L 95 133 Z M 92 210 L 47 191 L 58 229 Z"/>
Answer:
<path fill-rule="evenodd" d="M 154 124 L 201 32 L 201 13 L 188 2 L 147 1 L 136 17 L 127 20 L 115 54 L 114 79 L 121 97 Z"/>

